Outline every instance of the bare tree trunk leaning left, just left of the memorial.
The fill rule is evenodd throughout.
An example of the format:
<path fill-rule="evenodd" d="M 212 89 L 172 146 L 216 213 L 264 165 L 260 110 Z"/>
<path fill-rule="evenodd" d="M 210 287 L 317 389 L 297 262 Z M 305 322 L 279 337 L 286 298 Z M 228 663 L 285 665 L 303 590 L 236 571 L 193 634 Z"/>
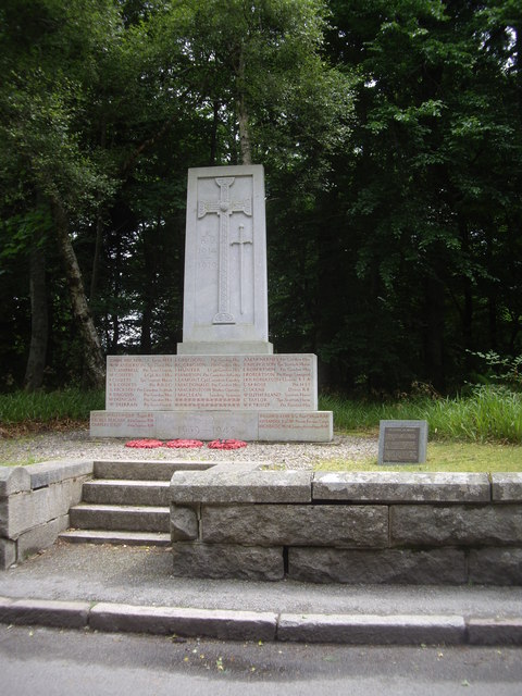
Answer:
<path fill-rule="evenodd" d="M 60 201 L 52 201 L 52 213 L 57 231 L 60 256 L 65 271 L 73 315 L 77 323 L 84 347 L 84 362 L 89 385 L 104 386 L 104 360 L 101 345 L 85 296 L 84 281 L 78 260 L 69 236 L 69 222 Z"/>

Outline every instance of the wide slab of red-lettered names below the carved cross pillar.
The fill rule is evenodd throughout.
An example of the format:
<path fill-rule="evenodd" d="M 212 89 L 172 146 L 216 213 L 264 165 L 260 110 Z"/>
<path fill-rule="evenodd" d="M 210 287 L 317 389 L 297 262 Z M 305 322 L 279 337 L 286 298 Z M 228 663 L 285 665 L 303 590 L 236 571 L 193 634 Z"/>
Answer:
<path fill-rule="evenodd" d="M 110 356 L 108 411 L 318 408 L 316 358 L 282 356 Z"/>

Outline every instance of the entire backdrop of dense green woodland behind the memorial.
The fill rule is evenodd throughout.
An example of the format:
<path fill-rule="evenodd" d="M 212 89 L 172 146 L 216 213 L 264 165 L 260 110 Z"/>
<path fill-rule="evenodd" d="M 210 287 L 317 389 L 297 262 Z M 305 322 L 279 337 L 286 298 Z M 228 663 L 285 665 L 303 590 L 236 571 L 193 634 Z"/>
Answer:
<path fill-rule="evenodd" d="M 3 0 L 0 42 L 1 390 L 174 352 L 186 171 L 248 161 L 271 340 L 323 386 L 522 353 L 517 0 Z"/>

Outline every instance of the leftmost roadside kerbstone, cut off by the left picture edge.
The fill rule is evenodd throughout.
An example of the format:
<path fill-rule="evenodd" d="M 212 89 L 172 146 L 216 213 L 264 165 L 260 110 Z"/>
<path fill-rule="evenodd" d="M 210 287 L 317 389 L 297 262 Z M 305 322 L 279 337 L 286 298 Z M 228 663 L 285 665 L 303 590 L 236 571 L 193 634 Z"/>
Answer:
<path fill-rule="evenodd" d="M 13 599 L 0 601 L 0 621 L 16 625 L 39 624 L 60 629 L 83 629 L 89 612 L 87 601 Z"/>

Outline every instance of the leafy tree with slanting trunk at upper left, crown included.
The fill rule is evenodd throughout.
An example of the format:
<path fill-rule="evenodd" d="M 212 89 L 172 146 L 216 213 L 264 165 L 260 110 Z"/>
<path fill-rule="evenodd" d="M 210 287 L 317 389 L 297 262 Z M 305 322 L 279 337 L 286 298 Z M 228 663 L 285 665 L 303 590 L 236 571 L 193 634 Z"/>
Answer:
<path fill-rule="evenodd" d="M 11 204 L 27 207 L 35 198 L 50 204 L 53 237 L 85 348 L 87 377 L 94 386 L 102 386 L 101 347 L 71 235 L 96 199 L 111 190 L 110 173 L 100 166 L 96 151 L 84 147 L 82 125 L 89 86 L 96 80 L 97 58 L 116 38 L 117 14 L 110 0 L 66 4 L 7 0 L 0 25 L 4 184 Z"/>

